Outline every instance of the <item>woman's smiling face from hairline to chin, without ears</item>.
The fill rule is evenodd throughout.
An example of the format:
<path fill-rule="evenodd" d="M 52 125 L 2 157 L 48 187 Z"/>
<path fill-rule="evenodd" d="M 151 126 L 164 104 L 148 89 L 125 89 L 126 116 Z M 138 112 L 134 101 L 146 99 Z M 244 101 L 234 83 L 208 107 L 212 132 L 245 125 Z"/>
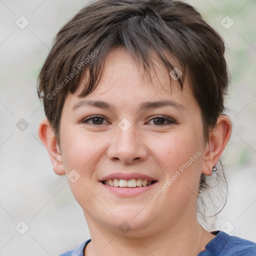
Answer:
<path fill-rule="evenodd" d="M 172 79 L 170 93 L 165 69 L 158 64 L 156 70 L 159 80 L 156 75 L 152 84 L 142 80 L 132 57 L 118 47 L 107 55 L 91 94 L 79 98 L 80 84 L 65 99 L 60 150 L 71 191 L 88 225 L 92 221 L 108 230 L 131 227 L 136 232 L 143 228 L 149 234 L 152 228 L 168 228 L 178 221 L 184 225 L 195 216 L 204 163 L 200 108 L 187 83 L 181 92 Z M 99 101 L 102 107 L 82 100 Z M 153 104 L 156 101 L 169 104 Z M 97 117 L 84 121 L 92 115 Z M 136 185 L 139 178 L 155 182 L 136 188 L 102 183 L 110 177 L 135 178 Z M 134 180 L 120 185 L 128 183 L 133 186 Z"/>

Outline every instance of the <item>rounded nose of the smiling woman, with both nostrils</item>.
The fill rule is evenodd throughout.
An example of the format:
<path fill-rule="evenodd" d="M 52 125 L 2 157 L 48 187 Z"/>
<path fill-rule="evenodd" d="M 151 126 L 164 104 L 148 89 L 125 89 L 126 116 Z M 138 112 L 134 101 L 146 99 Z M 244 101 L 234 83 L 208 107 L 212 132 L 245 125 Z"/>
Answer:
<path fill-rule="evenodd" d="M 107 157 L 110 160 L 131 164 L 146 159 L 149 149 L 134 125 L 126 131 L 117 126 L 116 132 L 117 134 L 109 141 L 110 145 L 107 148 Z"/>

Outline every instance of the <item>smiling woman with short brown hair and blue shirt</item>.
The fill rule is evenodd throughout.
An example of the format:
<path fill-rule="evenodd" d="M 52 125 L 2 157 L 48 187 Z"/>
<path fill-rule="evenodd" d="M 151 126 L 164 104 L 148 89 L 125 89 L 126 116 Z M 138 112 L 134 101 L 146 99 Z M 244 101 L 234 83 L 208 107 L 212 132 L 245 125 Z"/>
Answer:
<path fill-rule="evenodd" d="M 221 37 L 189 4 L 98 0 L 58 32 L 38 135 L 91 239 L 64 255 L 254 255 L 204 229 L 197 197 L 231 134 Z"/>

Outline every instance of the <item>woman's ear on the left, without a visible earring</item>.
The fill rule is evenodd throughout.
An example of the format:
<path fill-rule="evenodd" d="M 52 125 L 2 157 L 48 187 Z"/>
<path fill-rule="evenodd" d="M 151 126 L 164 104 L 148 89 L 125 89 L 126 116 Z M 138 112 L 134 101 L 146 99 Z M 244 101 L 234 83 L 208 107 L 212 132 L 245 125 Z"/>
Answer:
<path fill-rule="evenodd" d="M 39 123 L 38 136 L 48 151 L 54 172 L 58 175 L 64 175 L 65 168 L 62 164 L 62 155 L 47 118 Z"/>

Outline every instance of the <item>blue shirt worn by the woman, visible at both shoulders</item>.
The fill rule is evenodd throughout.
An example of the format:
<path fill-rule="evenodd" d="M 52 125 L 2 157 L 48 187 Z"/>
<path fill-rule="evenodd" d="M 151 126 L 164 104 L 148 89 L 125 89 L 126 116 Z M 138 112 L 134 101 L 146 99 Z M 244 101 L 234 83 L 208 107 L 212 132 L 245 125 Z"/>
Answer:
<path fill-rule="evenodd" d="M 221 230 L 212 231 L 215 237 L 211 239 L 206 245 L 203 251 L 197 256 L 255 256 L 256 255 L 256 243 L 239 238 L 234 235 L 229 235 Z M 73 250 L 68 250 L 59 256 L 84 256 L 83 250 L 87 241 L 80 244 Z"/>

